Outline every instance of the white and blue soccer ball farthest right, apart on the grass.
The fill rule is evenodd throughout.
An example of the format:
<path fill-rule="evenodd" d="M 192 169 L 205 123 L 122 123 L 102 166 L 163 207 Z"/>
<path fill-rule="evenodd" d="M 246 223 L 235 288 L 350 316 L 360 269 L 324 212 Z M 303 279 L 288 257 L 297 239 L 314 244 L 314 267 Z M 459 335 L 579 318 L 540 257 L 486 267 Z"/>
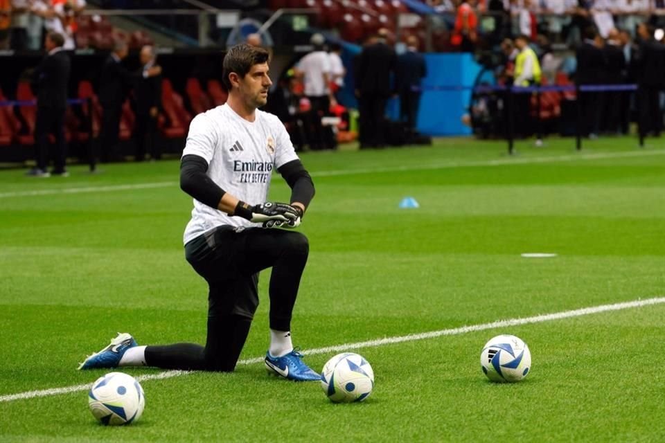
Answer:
<path fill-rule="evenodd" d="M 520 381 L 531 370 L 531 352 L 521 338 L 497 335 L 485 343 L 480 353 L 483 372 L 491 381 Z"/>

